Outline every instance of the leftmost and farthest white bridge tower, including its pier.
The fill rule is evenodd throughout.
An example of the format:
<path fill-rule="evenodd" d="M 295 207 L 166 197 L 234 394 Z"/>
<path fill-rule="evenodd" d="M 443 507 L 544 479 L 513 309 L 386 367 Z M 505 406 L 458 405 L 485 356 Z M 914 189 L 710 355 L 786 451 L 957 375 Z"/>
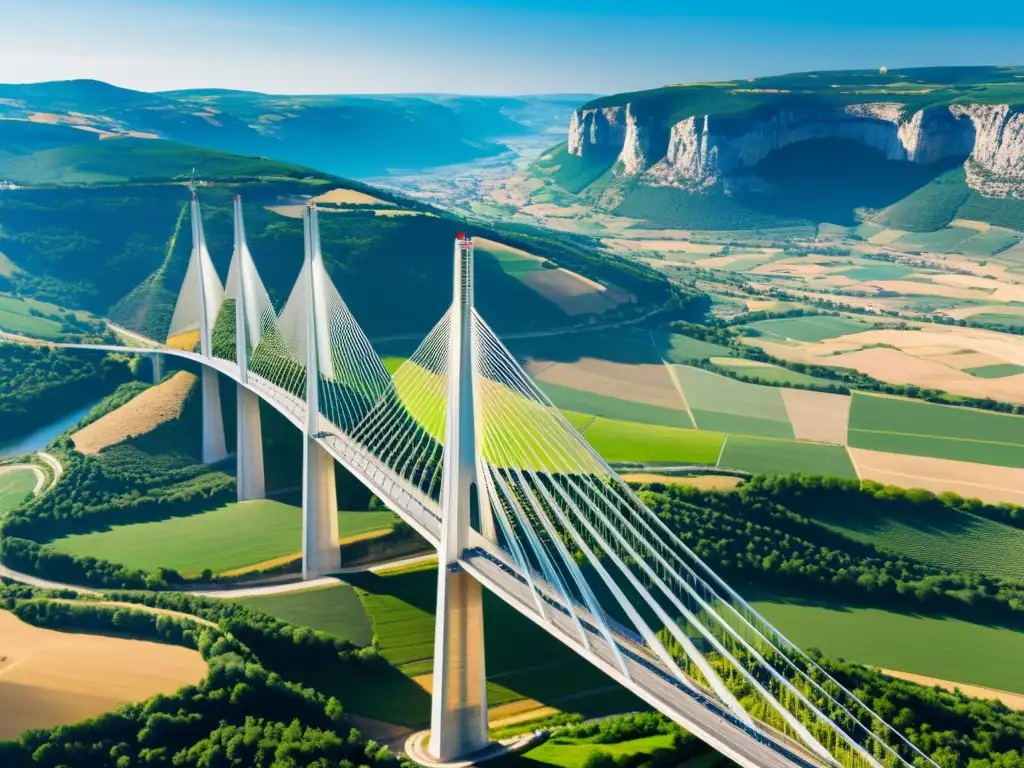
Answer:
<path fill-rule="evenodd" d="M 220 310 L 220 299 L 223 290 L 217 272 L 210 261 L 206 250 L 206 239 L 203 236 L 203 219 L 199 210 L 199 198 L 193 190 L 191 225 L 193 225 L 193 263 L 189 269 L 196 270 L 196 285 L 199 291 L 199 343 L 200 353 L 204 357 L 213 354 L 213 343 L 210 332 Z M 188 283 L 185 274 L 184 289 Z M 180 300 L 179 300 L 180 303 Z M 211 306 L 212 304 L 212 306 Z M 212 312 L 212 317 L 211 317 Z M 220 411 L 220 380 L 217 372 L 209 366 L 203 366 L 203 463 L 215 464 L 227 458 L 227 445 L 224 442 L 224 418 Z"/>

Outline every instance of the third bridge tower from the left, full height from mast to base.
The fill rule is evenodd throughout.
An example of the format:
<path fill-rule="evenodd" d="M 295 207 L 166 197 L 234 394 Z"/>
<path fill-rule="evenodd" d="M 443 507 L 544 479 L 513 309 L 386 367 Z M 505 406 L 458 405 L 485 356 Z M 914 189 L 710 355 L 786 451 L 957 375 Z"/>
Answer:
<path fill-rule="evenodd" d="M 302 578 L 314 579 L 341 567 L 338 548 L 338 492 L 334 483 L 334 457 L 313 438 L 321 431 L 319 362 L 330 348 L 318 349 L 323 331 L 317 329 L 317 286 L 322 269 L 316 209 L 310 206 L 305 217 L 306 247 L 306 425 L 302 450 Z M 329 338 L 329 337 L 328 337 Z"/>

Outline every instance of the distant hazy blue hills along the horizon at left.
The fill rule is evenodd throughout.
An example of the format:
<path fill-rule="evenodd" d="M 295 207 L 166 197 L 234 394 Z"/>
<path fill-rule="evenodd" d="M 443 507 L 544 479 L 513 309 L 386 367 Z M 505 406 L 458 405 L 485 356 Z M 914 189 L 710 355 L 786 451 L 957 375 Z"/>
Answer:
<path fill-rule="evenodd" d="M 500 139 L 561 122 L 577 103 L 578 96 L 146 93 L 71 80 L 0 85 L 0 124 L 163 138 L 367 178 L 499 155 Z"/>

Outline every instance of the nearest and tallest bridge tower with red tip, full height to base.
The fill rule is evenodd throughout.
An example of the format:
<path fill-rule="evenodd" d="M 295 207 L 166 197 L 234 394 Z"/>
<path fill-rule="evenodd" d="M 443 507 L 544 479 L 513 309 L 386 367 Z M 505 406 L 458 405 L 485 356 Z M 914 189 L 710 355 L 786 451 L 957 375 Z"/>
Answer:
<path fill-rule="evenodd" d="M 462 233 L 455 244 L 453 308 L 429 746 L 439 761 L 454 760 L 488 743 L 483 594 L 479 582 L 459 568 L 469 538 L 470 500 L 474 493 L 484 496 L 476 477 L 473 244 Z"/>

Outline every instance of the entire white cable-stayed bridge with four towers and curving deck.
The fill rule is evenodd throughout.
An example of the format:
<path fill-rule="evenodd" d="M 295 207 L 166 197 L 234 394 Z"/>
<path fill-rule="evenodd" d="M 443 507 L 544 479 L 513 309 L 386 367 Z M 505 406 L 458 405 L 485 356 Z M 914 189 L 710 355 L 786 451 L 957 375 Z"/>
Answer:
<path fill-rule="evenodd" d="M 225 283 L 195 193 L 191 229 L 166 342 L 130 348 L 201 364 L 206 462 L 226 458 L 218 374 L 236 382 L 240 500 L 264 493 L 259 399 L 302 430 L 304 578 L 341 565 L 335 462 L 437 549 L 437 760 L 487 744 L 487 589 L 740 765 L 934 765 L 758 614 L 562 417 L 474 308 L 469 239 L 455 243 L 451 307 L 389 375 L 324 266 L 314 206 L 280 308 L 239 199 Z"/>

